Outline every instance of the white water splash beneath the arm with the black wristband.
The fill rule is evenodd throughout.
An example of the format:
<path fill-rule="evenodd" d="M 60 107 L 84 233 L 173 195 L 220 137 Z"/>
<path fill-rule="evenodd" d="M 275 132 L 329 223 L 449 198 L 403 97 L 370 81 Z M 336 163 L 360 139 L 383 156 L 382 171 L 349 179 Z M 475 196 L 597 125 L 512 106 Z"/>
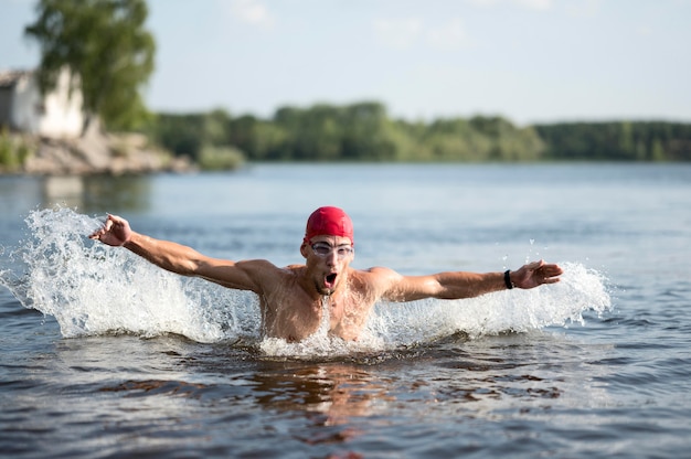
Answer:
<path fill-rule="evenodd" d="M 504 290 L 451 301 L 380 305 L 369 331 L 394 342 L 435 341 L 459 331 L 474 339 L 507 331 L 585 324 L 585 311 L 602 314 L 609 310 L 612 301 L 602 275 L 578 264 L 560 265 L 564 268 L 562 281 L 536 289 Z"/>

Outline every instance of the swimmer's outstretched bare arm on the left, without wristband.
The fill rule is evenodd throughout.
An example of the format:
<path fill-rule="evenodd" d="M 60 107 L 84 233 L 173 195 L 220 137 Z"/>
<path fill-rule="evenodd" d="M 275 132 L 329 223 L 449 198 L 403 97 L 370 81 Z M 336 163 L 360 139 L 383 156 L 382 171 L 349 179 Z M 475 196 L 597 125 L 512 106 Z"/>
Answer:
<path fill-rule="evenodd" d="M 89 238 L 110 246 L 125 247 L 171 273 L 203 277 L 242 290 L 257 291 L 258 286 L 252 273 L 256 270 L 255 265 L 268 264 L 262 260 L 235 263 L 211 258 L 191 247 L 139 234 L 130 228 L 125 218 L 117 215 L 108 215 L 104 225 L 92 233 Z"/>

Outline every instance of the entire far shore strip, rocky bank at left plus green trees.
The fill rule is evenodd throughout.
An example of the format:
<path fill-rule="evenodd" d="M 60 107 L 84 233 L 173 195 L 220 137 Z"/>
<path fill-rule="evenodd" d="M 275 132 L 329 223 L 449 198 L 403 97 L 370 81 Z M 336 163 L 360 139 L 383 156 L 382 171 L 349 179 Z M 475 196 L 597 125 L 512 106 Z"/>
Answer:
<path fill-rule="evenodd" d="M 691 161 L 691 124 L 555 122 L 500 116 L 392 119 L 379 103 L 283 107 L 270 119 L 223 109 L 152 114 L 136 131 L 94 124 L 78 139 L 0 130 L 0 174 L 232 170 L 245 162 Z"/>

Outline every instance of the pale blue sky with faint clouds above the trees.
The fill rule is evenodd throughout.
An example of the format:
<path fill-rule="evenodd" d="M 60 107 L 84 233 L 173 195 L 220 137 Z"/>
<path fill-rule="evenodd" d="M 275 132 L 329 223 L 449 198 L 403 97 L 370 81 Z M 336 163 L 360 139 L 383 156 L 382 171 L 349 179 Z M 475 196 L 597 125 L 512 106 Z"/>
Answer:
<path fill-rule="evenodd" d="M 394 118 L 691 122 L 691 0 L 148 0 L 155 111 L 380 102 Z M 35 68 L 0 0 L 0 70 Z"/>

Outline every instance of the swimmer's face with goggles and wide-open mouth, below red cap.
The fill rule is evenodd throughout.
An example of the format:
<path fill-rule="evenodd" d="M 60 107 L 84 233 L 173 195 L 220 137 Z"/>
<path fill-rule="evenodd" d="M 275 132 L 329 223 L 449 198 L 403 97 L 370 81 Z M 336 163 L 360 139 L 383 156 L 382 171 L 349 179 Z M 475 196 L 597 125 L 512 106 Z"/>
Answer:
<path fill-rule="evenodd" d="M 308 273 L 321 295 L 331 295 L 353 258 L 352 242 L 341 236 L 315 236 L 304 249 Z"/>

